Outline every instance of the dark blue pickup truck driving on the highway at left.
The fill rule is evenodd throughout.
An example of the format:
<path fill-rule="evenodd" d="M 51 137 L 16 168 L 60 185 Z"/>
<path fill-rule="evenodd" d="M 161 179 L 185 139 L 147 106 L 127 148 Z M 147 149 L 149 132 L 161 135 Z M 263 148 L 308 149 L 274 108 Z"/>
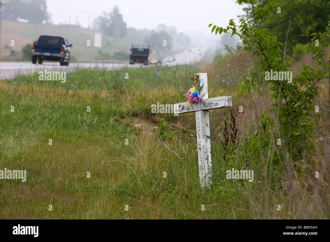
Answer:
<path fill-rule="evenodd" d="M 70 48 L 66 38 L 62 36 L 41 35 L 38 41 L 32 44 L 32 63 L 42 64 L 44 60 L 59 61 L 61 66 L 68 66 Z"/>

